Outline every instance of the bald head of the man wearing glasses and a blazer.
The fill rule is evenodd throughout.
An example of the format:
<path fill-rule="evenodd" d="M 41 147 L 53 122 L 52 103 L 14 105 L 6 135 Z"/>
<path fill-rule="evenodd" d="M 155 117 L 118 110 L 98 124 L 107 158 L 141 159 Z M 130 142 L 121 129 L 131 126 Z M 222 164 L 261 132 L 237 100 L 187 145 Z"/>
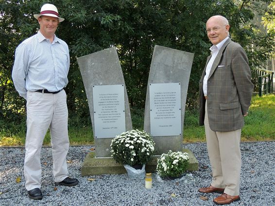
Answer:
<path fill-rule="evenodd" d="M 229 25 L 218 17 L 209 18 L 206 22 L 207 36 L 213 45 L 219 44 L 228 36 Z"/>

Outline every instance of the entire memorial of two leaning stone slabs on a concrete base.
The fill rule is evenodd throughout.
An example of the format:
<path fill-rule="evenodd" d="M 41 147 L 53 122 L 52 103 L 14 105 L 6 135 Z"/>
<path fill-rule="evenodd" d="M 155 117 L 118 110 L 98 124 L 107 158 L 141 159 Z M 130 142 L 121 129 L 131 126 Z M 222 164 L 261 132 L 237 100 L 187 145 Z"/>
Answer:
<path fill-rule="evenodd" d="M 155 47 L 148 81 L 150 85 L 147 89 L 144 130 L 152 130 L 155 134 L 158 154 L 169 149 L 182 149 L 184 109 L 192 60 L 191 53 Z M 95 153 L 90 152 L 86 156 L 81 174 L 126 173 L 124 167 L 110 157 L 111 140 L 123 130 L 132 129 L 128 97 L 116 48 L 80 57 L 77 62 L 86 90 L 95 142 Z M 149 92 L 152 94 L 149 95 Z M 150 98 L 153 101 L 150 102 Z M 164 131 L 167 133 L 164 134 Z M 198 170 L 198 162 L 193 154 L 187 150 L 184 152 L 190 154 L 188 170 Z M 155 156 L 146 164 L 146 172 L 155 172 L 158 157 Z"/>

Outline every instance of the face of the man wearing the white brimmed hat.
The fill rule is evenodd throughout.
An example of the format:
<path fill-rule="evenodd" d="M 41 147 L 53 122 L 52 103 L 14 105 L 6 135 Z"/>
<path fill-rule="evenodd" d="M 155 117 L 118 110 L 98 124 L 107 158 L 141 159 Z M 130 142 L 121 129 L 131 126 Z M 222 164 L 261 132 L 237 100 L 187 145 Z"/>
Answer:
<path fill-rule="evenodd" d="M 59 23 L 58 18 L 52 16 L 40 16 L 38 22 L 40 24 L 40 32 L 47 38 L 54 35 Z"/>

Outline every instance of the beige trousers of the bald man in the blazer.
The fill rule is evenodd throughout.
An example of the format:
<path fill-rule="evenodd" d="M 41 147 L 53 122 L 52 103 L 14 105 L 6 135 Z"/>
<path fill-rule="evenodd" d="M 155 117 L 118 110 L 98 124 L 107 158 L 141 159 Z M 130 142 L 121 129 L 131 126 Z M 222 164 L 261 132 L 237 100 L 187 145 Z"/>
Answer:
<path fill-rule="evenodd" d="M 229 132 L 215 132 L 209 127 L 205 114 L 205 131 L 207 151 L 212 167 L 211 185 L 215 188 L 224 188 L 229 195 L 240 194 L 241 177 L 241 129 Z"/>

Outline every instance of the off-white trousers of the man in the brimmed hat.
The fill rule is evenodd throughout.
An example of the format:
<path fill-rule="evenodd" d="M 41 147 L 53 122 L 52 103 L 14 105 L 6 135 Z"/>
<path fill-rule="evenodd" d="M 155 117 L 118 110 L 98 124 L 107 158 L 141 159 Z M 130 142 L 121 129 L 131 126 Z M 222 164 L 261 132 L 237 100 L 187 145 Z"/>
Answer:
<path fill-rule="evenodd" d="M 66 92 L 57 94 L 27 93 L 27 134 L 24 174 L 27 190 L 41 187 L 40 153 L 50 128 L 53 176 L 55 182 L 68 177 L 66 156 L 69 150 Z"/>

